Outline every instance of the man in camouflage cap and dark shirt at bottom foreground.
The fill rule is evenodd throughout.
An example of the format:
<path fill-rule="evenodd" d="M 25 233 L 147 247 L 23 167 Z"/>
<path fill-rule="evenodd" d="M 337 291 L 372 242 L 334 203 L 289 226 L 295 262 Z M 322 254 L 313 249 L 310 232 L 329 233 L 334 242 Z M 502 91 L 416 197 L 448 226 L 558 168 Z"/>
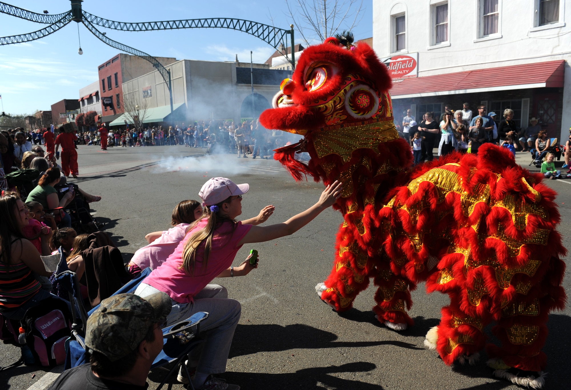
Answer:
<path fill-rule="evenodd" d="M 51 390 L 146 389 L 148 372 L 163 349 L 160 328 L 171 311 L 164 292 L 104 299 L 87 319 L 89 363 L 64 371 Z"/>

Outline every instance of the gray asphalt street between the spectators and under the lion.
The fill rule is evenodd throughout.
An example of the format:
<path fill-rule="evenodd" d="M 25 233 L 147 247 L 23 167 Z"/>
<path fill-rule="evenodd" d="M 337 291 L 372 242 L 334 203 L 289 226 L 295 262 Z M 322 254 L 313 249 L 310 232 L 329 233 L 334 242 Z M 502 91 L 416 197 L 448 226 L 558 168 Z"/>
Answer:
<path fill-rule="evenodd" d="M 274 160 L 238 159 L 235 155 L 205 156 L 204 149 L 184 147 L 109 148 L 79 147 L 83 190 L 102 196 L 92 204 L 94 216 L 106 222 L 105 230 L 122 251 L 125 261 L 143 246 L 144 235 L 166 230 L 172 208 L 182 200 L 198 200 L 210 177 L 226 176 L 250 184 L 242 201 L 246 219 L 266 205 L 276 211 L 266 224 L 283 222 L 314 204 L 322 184 L 296 183 Z M 193 157 L 194 156 L 194 157 Z M 527 167 L 528 154 L 517 160 Z M 534 170 L 536 168 L 532 167 Z M 558 192 L 564 245 L 571 245 L 571 180 L 545 181 Z M 372 286 L 342 315 L 317 297 L 314 286 L 323 281 L 334 255 L 335 234 L 341 214 L 327 209 L 297 233 L 275 241 L 245 245 L 234 265 L 250 249 L 260 256 L 258 269 L 246 277 L 216 279 L 231 298 L 242 303 L 242 318 L 234 336 L 227 372 L 223 377 L 243 389 L 517 389 L 496 380 L 486 367 L 485 351 L 474 366 L 448 367 L 423 345 L 424 335 L 439 322 L 440 308 L 448 296 L 428 295 L 424 285 L 412 293 L 410 315 L 415 326 L 395 332 L 378 323 L 371 311 Z M 567 261 L 567 259 L 566 259 Z M 569 273 L 565 287 L 570 289 Z M 569 388 L 571 375 L 571 309 L 549 316 L 549 337 L 544 351 L 549 373 L 546 389 Z M 490 327 L 486 328 L 490 339 Z M 0 365 L 19 358 L 19 348 L 0 344 Z M 37 366 L 0 371 L 0 389 L 41 390 L 61 367 Z M 155 389 L 164 372 L 151 372 Z M 42 381 L 43 378 L 43 381 Z M 182 389 L 176 375 L 172 389 Z"/>

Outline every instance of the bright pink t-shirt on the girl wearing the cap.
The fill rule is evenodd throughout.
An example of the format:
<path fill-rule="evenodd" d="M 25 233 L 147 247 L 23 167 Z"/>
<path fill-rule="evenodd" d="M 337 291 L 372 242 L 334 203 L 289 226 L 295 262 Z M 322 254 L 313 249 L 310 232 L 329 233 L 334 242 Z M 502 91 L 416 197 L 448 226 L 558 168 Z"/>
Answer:
<path fill-rule="evenodd" d="M 186 244 L 192 233 L 206 226 L 207 221 L 205 218 L 194 229 L 188 231 L 186 237 L 167 258 L 167 261 L 152 271 L 144 279 L 143 283 L 166 292 L 176 302 L 188 303 L 192 302 L 192 298 L 202 291 L 212 279 L 228 269 L 232 265 L 236 253 L 242 247 L 242 245 L 238 245 L 238 242 L 250 231 L 252 225 L 242 225 L 242 222 L 238 222 L 232 226 L 231 222 L 224 222 L 216 229 L 214 237 L 212 237 L 212 250 L 208 258 L 207 269 L 202 270 L 204 243 L 198 247 L 196 253 L 194 276 L 186 273 L 181 268 L 184 244 Z"/>

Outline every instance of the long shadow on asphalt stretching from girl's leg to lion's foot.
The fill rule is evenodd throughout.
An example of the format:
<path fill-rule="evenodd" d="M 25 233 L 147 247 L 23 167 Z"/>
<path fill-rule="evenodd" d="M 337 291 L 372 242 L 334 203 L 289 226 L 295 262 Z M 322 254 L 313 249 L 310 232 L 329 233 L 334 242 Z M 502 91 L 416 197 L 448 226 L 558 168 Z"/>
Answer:
<path fill-rule="evenodd" d="M 337 342 L 337 335 L 305 324 L 281 326 L 277 324 L 242 325 L 236 327 L 230 358 L 258 352 L 287 351 L 292 349 L 362 348 L 392 345 L 409 350 L 424 350 L 415 344 L 396 340 L 374 342 Z"/>

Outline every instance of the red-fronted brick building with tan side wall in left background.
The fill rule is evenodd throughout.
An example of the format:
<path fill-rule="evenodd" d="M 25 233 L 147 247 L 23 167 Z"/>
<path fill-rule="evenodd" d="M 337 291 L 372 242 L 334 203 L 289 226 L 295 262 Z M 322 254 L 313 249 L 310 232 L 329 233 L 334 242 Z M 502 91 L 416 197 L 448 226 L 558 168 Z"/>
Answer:
<path fill-rule="evenodd" d="M 163 66 L 176 62 L 176 58 L 155 58 Z M 147 60 L 128 54 L 118 54 L 99 65 L 99 112 L 103 115 L 103 123 L 111 122 L 124 112 L 122 84 L 154 70 Z"/>

